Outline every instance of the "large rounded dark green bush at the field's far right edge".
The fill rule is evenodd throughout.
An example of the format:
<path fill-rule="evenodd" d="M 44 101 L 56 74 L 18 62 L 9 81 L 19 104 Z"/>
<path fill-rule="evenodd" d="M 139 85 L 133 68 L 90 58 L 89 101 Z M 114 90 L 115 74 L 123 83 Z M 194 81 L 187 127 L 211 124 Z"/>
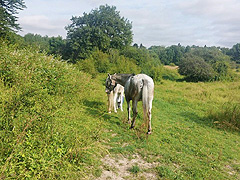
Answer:
<path fill-rule="evenodd" d="M 197 47 L 185 54 L 179 72 L 190 81 L 232 80 L 230 62 L 230 57 L 216 47 Z"/>

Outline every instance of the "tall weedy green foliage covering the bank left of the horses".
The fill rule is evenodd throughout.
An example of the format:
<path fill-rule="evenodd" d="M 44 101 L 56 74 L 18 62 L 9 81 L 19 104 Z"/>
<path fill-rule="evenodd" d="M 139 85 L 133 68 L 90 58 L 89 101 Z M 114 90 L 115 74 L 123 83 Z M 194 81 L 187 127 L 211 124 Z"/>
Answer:
<path fill-rule="evenodd" d="M 98 142 L 101 118 L 86 110 L 89 91 L 95 91 L 91 78 L 34 49 L 4 42 L 0 57 L 1 179 L 86 176 L 91 171 L 86 166 L 97 166 L 94 159 L 104 152 Z"/>

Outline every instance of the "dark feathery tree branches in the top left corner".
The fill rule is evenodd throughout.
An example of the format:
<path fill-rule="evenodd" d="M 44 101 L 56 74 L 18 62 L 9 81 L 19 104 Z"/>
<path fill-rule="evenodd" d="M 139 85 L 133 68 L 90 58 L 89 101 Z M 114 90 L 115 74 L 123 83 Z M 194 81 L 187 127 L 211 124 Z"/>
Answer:
<path fill-rule="evenodd" d="M 0 37 L 21 29 L 16 14 L 25 7 L 23 0 L 0 0 Z"/>

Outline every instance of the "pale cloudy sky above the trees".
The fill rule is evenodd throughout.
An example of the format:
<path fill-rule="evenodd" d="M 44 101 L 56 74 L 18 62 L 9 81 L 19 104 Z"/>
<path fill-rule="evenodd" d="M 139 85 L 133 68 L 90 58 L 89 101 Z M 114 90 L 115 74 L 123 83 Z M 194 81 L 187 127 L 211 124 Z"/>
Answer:
<path fill-rule="evenodd" d="M 133 43 L 146 47 L 221 46 L 240 43 L 240 0 L 24 0 L 18 14 L 27 33 L 66 38 L 72 16 L 100 5 L 116 6 L 132 22 Z"/>

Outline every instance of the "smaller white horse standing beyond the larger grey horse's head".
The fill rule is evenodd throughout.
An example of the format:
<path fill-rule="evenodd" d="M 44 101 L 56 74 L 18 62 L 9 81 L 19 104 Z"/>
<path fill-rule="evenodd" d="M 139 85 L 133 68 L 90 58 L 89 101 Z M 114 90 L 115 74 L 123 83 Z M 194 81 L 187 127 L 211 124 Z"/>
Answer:
<path fill-rule="evenodd" d="M 108 95 L 108 112 L 111 113 L 112 108 L 114 112 L 117 112 L 118 108 L 123 111 L 124 87 L 120 84 L 114 84 L 112 87 L 107 88 L 106 85 L 105 92 Z"/>

